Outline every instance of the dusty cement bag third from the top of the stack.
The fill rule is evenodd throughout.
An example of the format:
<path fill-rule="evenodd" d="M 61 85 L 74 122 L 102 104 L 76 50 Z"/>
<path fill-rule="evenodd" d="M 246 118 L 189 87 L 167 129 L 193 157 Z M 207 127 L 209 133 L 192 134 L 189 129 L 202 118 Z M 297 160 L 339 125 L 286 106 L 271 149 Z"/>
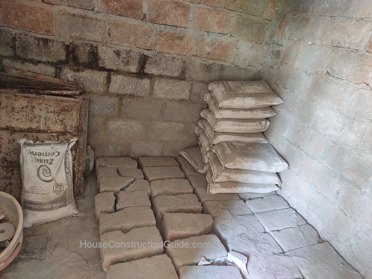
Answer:
<path fill-rule="evenodd" d="M 215 118 L 212 110 L 203 109 L 200 112 L 202 118 L 208 121 L 216 132 L 225 133 L 260 133 L 269 128 L 270 121 L 267 119 L 229 119 Z"/>

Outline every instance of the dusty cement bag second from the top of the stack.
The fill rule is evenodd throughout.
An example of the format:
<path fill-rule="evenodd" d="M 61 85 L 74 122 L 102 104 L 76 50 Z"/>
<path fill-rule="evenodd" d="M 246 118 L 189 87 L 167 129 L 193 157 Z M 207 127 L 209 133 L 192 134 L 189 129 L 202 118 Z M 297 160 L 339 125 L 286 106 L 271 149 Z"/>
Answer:
<path fill-rule="evenodd" d="M 204 95 L 204 100 L 215 118 L 235 118 L 235 119 L 260 119 L 275 116 L 277 113 L 269 106 L 259 109 L 228 109 L 218 108 L 217 102 L 212 93 L 208 91 Z"/>

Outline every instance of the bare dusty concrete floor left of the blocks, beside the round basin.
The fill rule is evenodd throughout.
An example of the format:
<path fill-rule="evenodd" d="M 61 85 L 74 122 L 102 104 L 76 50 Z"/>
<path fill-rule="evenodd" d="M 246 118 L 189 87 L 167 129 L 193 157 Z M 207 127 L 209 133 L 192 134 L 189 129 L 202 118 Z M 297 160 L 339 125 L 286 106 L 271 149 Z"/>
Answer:
<path fill-rule="evenodd" d="M 15 278 L 106 278 L 99 250 L 80 248 L 80 240 L 98 242 L 98 221 L 94 217 L 94 196 L 97 193 L 96 177 L 85 180 L 85 198 L 76 200 L 80 216 L 36 225 L 23 230 L 23 237 L 48 235 L 44 260 L 15 259 L 0 272 L 1 279 Z"/>

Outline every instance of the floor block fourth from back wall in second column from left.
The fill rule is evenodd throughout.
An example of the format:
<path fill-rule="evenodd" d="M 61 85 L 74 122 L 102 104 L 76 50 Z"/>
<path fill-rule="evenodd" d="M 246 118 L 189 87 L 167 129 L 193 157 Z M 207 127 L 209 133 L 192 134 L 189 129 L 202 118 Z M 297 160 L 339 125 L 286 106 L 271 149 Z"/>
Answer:
<path fill-rule="evenodd" d="M 157 196 L 153 199 L 156 221 L 161 222 L 165 213 L 202 213 L 202 205 L 194 194 Z"/>

